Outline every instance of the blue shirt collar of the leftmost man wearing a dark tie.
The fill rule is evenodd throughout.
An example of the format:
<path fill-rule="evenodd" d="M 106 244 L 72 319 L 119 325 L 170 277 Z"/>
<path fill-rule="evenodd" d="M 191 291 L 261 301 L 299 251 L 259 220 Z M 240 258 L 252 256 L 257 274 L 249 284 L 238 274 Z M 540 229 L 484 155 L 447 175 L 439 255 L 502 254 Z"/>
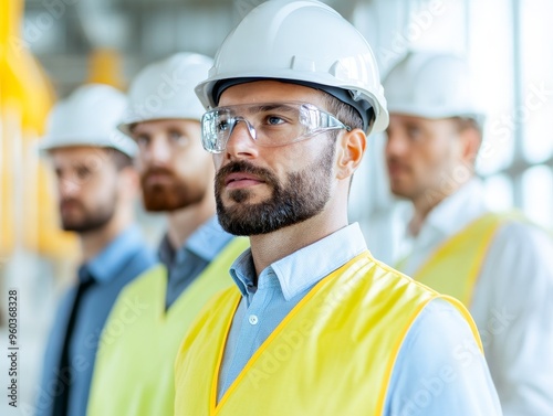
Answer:
<path fill-rule="evenodd" d="M 117 277 L 127 262 L 142 247 L 142 233 L 132 225 L 119 233 L 98 255 L 88 260 L 84 267 L 97 282 L 108 282 Z"/>

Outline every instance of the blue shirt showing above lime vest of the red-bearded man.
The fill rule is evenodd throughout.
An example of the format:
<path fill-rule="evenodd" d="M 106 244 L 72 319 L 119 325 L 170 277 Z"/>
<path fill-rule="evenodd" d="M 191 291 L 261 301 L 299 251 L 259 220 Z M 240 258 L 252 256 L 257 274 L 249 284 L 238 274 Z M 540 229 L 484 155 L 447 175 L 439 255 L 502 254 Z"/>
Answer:
<path fill-rule="evenodd" d="M 221 228 L 217 216 L 213 215 L 199 226 L 178 250 L 171 247 L 167 235 L 161 239 L 158 256 L 168 270 L 165 298 L 167 309 L 217 257 L 232 237 L 231 234 Z"/>

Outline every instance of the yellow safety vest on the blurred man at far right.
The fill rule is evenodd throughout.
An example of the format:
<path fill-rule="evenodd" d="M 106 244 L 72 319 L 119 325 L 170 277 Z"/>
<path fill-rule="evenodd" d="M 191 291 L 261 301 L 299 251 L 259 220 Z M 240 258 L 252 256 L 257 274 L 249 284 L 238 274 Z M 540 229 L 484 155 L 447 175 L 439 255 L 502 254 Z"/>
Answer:
<path fill-rule="evenodd" d="M 467 308 L 488 249 L 498 230 L 508 221 L 522 220 L 518 212 L 487 213 L 448 238 L 413 278 L 444 295 L 459 299 Z"/>

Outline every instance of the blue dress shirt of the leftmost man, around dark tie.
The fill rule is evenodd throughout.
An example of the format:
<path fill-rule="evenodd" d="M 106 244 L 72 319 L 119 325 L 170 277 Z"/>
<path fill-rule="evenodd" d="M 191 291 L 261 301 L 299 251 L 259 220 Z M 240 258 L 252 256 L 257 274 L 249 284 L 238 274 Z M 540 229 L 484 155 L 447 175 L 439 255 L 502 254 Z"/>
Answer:
<path fill-rule="evenodd" d="M 132 226 L 80 267 L 80 281 L 92 279 L 92 285 L 75 306 L 74 329 L 69 340 L 69 365 L 73 382 L 67 399 L 67 416 L 86 414 L 100 334 L 117 295 L 128 281 L 155 264 L 156 257 L 147 248 L 138 227 Z M 64 388 L 56 386 L 58 374 L 62 374 L 62 383 L 67 380 L 64 375 L 66 369 L 60 369 L 60 362 L 76 292 L 77 288 L 73 287 L 65 294 L 55 316 L 36 392 L 36 416 L 53 415 L 55 398 Z"/>

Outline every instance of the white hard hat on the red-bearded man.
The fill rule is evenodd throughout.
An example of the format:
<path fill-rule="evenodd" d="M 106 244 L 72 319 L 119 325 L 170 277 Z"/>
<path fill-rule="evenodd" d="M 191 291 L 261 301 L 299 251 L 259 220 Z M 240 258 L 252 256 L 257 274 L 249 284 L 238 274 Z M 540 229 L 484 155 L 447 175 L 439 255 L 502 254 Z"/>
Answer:
<path fill-rule="evenodd" d="M 182 52 L 146 66 L 131 83 L 119 130 L 129 135 L 131 125 L 148 120 L 200 120 L 205 110 L 194 87 L 206 78 L 212 64 L 208 56 Z"/>

